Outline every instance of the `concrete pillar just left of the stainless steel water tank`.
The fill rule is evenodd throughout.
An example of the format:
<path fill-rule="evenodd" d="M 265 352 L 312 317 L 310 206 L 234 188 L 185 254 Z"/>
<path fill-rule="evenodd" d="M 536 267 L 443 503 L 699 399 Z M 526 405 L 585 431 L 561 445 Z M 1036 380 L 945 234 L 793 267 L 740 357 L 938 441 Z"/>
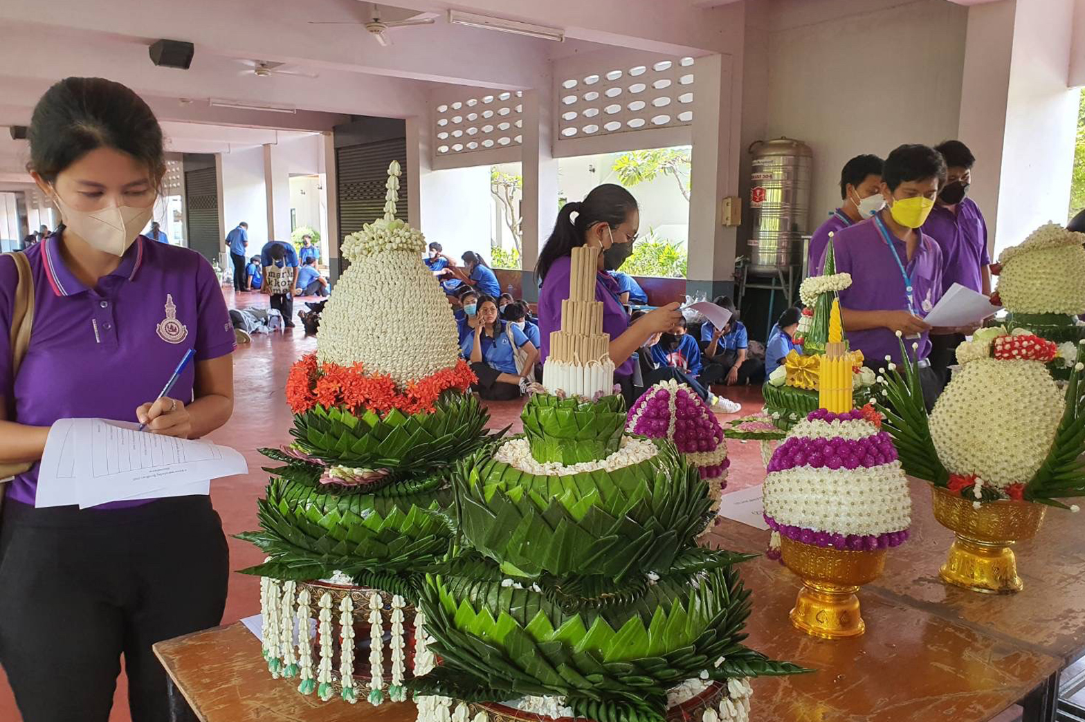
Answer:
<path fill-rule="evenodd" d="M 738 121 L 730 55 L 697 59 L 693 163 L 690 169 L 689 295 L 733 291 L 737 229 L 719 222 L 720 202 L 738 194 Z"/>

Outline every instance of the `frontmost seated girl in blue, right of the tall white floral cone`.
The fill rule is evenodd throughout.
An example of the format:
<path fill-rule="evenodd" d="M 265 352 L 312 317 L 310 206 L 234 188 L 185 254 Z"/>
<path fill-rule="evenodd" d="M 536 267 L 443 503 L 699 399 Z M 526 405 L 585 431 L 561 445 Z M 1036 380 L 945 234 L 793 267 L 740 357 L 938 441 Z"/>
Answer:
<path fill-rule="evenodd" d="M 478 298 L 478 323 L 461 345 L 478 377 L 471 389 L 487 401 L 518 399 L 527 388 L 538 349 L 516 326 L 502 321 L 493 296 Z"/>

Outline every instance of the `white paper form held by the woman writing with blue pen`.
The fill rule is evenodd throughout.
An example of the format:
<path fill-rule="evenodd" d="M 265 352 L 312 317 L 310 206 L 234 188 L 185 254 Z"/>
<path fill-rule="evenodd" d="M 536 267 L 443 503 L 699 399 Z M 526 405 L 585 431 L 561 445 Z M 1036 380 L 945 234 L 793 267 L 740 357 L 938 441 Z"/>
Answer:
<path fill-rule="evenodd" d="M 209 441 L 137 430 L 101 418 L 53 425 L 38 475 L 37 506 L 207 493 L 209 479 L 248 470 L 244 457 Z"/>

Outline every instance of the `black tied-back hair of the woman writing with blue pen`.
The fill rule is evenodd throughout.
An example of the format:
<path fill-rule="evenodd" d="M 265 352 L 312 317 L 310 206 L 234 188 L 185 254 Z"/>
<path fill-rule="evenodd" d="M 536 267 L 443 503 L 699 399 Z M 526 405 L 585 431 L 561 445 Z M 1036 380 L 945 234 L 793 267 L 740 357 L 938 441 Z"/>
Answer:
<path fill-rule="evenodd" d="M 151 185 L 166 172 L 162 127 L 143 99 L 104 78 L 64 78 L 34 106 L 27 168 L 47 183 L 87 153 L 112 147 L 146 166 Z"/>

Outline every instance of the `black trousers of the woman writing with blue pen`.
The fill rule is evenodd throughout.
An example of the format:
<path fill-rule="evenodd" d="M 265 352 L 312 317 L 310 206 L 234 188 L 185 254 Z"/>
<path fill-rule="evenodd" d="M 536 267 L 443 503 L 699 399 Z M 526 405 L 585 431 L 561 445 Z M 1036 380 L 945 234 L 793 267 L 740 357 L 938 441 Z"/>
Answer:
<path fill-rule="evenodd" d="M 151 645 L 214 627 L 229 551 L 207 497 L 0 521 L 0 665 L 24 722 L 107 722 L 124 654 L 133 722 L 167 722 Z M 191 718 L 194 720 L 194 717 Z"/>

